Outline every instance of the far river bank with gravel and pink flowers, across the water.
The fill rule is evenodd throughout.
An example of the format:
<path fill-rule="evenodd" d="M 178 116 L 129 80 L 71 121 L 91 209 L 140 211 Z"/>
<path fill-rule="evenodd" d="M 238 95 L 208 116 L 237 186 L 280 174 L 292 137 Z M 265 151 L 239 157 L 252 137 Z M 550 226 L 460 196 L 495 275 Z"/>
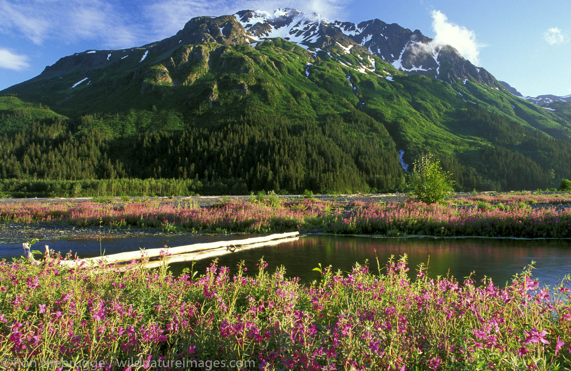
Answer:
<path fill-rule="evenodd" d="M 459 193 L 444 205 L 396 195 L 0 201 L 0 241 L 299 230 L 340 234 L 571 237 L 571 193 Z"/>

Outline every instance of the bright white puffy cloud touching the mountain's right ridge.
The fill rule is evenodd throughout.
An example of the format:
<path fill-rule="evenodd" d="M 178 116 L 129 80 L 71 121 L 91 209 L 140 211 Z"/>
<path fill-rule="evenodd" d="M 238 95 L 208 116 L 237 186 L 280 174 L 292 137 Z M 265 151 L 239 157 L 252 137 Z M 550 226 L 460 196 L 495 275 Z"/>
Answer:
<path fill-rule="evenodd" d="M 484 46 L 476 41 L 476 33 L 464 26 L 449 22 L 448 17 L 440 10 L 433 10 L 432 30 L 435 31 L 433 43 L 436 45 L 450 45 L 459 51 L 464 58 L 473 64 L 480 64 L 480 47 Z"/>

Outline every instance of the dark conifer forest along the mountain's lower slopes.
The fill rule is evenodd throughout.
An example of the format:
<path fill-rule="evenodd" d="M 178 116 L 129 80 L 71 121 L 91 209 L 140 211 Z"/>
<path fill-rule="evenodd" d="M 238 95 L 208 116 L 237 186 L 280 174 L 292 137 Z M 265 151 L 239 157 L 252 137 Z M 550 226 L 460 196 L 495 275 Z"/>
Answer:
<path fill-rule="evenodd" d="M 0 191 L 135 196 L 406 189 L 391 137 L 396 133 L 358 110 L 303 120 L 244 110 L 238 117 L 186 123 L 180 130 L 130 135 L 101 127 L 102 118 L 83 116 L 75 123 L 63 116 L 30 117 L 21 112 L 19 130 L 0 137 Z M 457 190 L 536 189 L 571 178 L 571 146 L 565 140 L 471 107 L 458 120 L 460 134 L 488 143 L 455 155 L 436 154 Z"/>

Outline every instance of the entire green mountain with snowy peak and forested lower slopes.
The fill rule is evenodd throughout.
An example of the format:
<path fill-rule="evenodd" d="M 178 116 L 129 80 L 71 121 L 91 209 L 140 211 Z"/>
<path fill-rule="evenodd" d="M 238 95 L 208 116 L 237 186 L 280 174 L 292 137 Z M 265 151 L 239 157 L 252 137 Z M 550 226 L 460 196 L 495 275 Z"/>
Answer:
<path fill-rule="evenodd" d="M 0 178 L 394 191 L 426 152 L 459 189 L 571 177 L 567 108 L 518 98 L 453 47 L 378 19 L 197 17 L 162 41 L 63 57 L 1 93 Z"/>

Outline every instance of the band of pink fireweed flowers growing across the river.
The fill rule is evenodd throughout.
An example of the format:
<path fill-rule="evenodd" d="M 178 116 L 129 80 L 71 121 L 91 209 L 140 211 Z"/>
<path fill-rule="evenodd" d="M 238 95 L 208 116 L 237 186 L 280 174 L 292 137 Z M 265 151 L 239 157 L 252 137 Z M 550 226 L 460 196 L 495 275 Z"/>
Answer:
<path fill-rule="evenodd" d="M 93 202 L 0 205 L 4 223 L 40 223 L 108 228 L 150 227 L 165 232 L 285 232 L 322 231 L 431 236 L 571 237 L 571 208 L 535 208 L 524 202 L 536 195 L 476 196 L 456 199 L 479 205 L 405 203 L 349 204 L 312 199 L 283 204 L 230 201 L 213 207 L 181 207 L 180 203 L 99 204 Z M 524 197 L 522 196 L 522 197 Z M 538 197 L 543 197 L 539 195 Z M 482 198 L 484 197 L 484 198 Z M 486 203 L 484 199 L 488 199 Z M 506 196 L 508 197 L 508 196 Z M 532 197 L 532 198 L 530 198 Z M 552 197 L 553 200 L 560 200 Z M 468 201 L 463 201 L 468 200 Z M 553 201 L 556 203 L 556 201 Z M 391 232 L 391 233 L 389 233 Z"/>

